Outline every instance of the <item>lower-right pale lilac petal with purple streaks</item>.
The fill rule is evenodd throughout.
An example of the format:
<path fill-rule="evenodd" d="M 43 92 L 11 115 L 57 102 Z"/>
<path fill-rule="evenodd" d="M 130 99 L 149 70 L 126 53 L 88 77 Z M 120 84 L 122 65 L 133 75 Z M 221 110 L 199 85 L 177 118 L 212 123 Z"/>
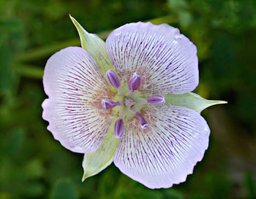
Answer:
<path fill-rule="evenodd" d="M 208 148 L 210 129 L 197 112 L 181 106 L 143 109 L 148 128 L 130 120 L 114 163 L 121 172 L 151 189 L 184 182 Z"/>

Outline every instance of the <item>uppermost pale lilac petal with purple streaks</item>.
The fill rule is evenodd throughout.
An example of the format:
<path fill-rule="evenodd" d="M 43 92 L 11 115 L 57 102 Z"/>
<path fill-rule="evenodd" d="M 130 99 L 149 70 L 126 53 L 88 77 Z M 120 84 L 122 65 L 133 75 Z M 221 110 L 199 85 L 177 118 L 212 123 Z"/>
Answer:
<path fill-rule="evenodd" d="M 198 85 L 197 49 L 177 28 L 129 23 L 108 36 L 106 47 L 123 82 L 140 74 L 142 93 L 183 94 Z"/>

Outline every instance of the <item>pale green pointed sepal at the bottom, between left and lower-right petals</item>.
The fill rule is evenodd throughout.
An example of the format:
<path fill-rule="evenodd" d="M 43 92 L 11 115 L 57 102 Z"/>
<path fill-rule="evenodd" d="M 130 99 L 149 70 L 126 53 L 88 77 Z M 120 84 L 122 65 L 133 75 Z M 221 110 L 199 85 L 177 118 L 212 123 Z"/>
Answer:
<path fill-rule="evenodd" d="M 95 152 L 85 154 L 83 157 L 83 179 L 94 176 L 103 169 L 107 168 L 113 162 L 113 156 L 116 152 L 116 146 L 119 139 L 113 135 L 114 122 L 108 130 L 102 145 Z"/>

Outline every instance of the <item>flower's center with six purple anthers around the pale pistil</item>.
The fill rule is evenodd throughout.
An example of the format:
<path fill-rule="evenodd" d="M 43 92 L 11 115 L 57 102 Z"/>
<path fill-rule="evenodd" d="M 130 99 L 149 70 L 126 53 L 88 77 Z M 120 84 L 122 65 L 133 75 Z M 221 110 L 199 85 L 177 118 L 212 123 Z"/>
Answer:
<path fill-rule="evenodd" d="M 118 114 L 118 120 L 116 120 L 114 125 L 114 136 L 116 138 L 121 138 L 124 133 L 124 120 L 127 117 L 137 117 L 140 122 L 140 128 L 148 128 L 148 122 L 140 114 L 140 109 L 143 105 L 159 105 L 165 104 L 165 96 L 163 95 L 151 95 L 148 98 L 141 98 L 135 96 L 135 90 L 138 90 L 141 85 L 140 74 L 135 72 L 130 78 L 128 83 L 129 92 L 125 93 L 121 87 L 121 83 L 118 79 L 117 74 L 113 70 L 109 70 L 106 73 L 106 77 L 110 85 L 117 89 L 118 95 L 121 96 L 120 101 L 112 101 L 110 99 L 103 99 L 102 106 L 104 109 L 112 109 L 116 106 L 121 107 L 121 111 Z M 128 118 L 129 119 L 129 118 Z"/>

